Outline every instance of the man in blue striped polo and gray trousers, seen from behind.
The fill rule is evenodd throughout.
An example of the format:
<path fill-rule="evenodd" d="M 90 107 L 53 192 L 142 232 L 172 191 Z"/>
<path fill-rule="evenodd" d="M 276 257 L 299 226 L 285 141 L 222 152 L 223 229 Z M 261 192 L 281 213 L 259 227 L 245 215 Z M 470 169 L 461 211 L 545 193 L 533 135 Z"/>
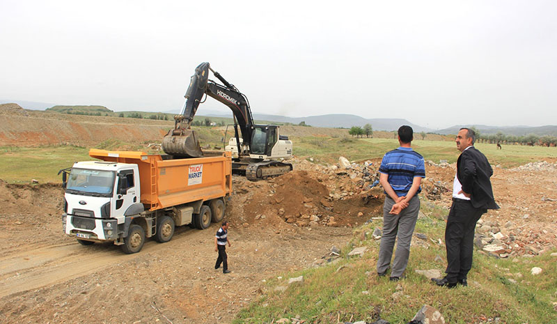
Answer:
<path fill-rule="evenodd" d="M 389 151 L 379 167 L 379 183 L 385 190 L 383 205 L 383 236 L 379 245 L 377 275 L 386 275 L 390 268 L 393 247 L 398 238 L 395 260 L 391 270 L 391 281 L 398 281 L 408 264 L 410 242 L 418 212 L 421 180 L 425 178 L 423 157 L 412 150 L 414 132 L 410 126 L 400 126 L 398 142 L 400 147 Z"/>

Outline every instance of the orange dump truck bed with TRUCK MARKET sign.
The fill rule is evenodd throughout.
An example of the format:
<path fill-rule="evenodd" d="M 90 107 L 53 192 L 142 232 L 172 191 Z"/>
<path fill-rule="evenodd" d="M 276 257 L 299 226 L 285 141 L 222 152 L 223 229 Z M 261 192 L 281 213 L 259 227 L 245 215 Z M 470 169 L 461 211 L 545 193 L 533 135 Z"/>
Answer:
<path fill-rule="evenodd" d="M 141 203 L 157 210 L 191 201 L 208 201 L 232 192 L 232 155 L 163 160 L 141 151 L 91 148 L 89 156 L 107 162 L 137 164 Z"/>

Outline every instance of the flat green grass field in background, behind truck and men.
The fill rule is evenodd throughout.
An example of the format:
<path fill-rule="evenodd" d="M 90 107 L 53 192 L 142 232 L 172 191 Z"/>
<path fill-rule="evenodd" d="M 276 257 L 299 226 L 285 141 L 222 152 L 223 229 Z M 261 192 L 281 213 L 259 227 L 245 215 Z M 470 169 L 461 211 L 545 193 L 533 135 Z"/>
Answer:
<path fill-rule="evenodd" d="M 221 148 L 223 132 L 209 128 L 196 128 L 202 142 L 211 149 Z M 230 137 L 230 132 L 228 137 Z M 386 151 L 398 147 L 395 139 L 354 139 L 352 137 L 292 137 L 294 155 L 313 157 L 316 162 L 333 164 L 343 155 L 348 160 L 361 161 L 381 158 Z M 439 163 L 447 160 L 456 162 L 459 151 L 453 141 L 416 140 L 412 146 L 421 153 L 425 160 Z M 501 164 L 501 167 L 517 167 L 528 162 L 557 158 L 557 148 L 541 146 L 503 145 L 496 150 L 494 144 L 476 144 L 485 153 L 489 162 Z M 148 151 L 141 143 L 126 143 L 118 140 L 104 141 L 94 148 L 107 150 Z M 60 182 L 56 175 L 59 169 L 71 167 L 73 162 L 90 160 L 88 148 L 79 146 L 40 146 L 37 148 L 20 148 L 16 146 L 0 147 L 0 179 L 8 183 L 30 183 L 31 179 L 45 182 Z"/>

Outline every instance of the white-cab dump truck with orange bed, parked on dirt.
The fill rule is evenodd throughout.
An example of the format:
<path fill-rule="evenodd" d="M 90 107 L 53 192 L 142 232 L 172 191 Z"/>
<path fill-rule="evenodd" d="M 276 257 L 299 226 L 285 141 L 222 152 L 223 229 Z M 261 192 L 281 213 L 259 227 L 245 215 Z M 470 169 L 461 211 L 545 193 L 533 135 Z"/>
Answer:
<path fill-rule="evenodd" d="M 224 217 L 231 153 L 176 159 L 91 149 L 96 161 L 63 169 L 63 230 L 82 245 L 112 241 L 127 254 L 146 238 L 171 240 L 175 226 L 206 229 Z"/>

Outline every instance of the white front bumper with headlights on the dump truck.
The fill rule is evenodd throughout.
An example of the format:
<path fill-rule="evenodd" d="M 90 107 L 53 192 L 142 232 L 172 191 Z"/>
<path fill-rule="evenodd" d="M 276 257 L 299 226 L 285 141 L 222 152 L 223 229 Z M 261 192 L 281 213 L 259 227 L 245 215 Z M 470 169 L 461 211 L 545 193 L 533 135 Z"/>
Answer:
<path fill-rule="evenodd" d="M 74 216 L 63 213 L 64 233 L 79 240 L 113 241 L 118 239 L 118 220 Z"/>

